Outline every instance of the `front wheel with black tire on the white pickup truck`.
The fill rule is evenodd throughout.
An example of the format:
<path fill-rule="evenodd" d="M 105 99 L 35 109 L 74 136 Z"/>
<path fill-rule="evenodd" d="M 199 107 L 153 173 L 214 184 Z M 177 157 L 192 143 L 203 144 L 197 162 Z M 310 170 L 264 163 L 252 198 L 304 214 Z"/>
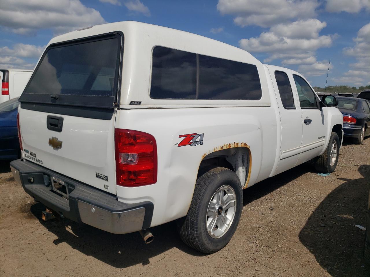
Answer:
<path fill-rule="evenodd" d="M 332 149 L 334 147 L 334 149 Z M 335 168 L 337 167 L 338 158 L 339 158 L 339 147 L 340 147 L 340 141 L 337 133 L 332 132 L 330 135 L 329 143 L 325 149 L 325 152 L 314 159 L 314 166 L 315 169 L 322 173 L 332 173 Z M 335 150 L 336 153 L 334 153 L 332 150 Z M 335 160 L 332 160 L 332 157 L 335 156 Z M 334 163 L 333 163 L 334 161 Z"/>

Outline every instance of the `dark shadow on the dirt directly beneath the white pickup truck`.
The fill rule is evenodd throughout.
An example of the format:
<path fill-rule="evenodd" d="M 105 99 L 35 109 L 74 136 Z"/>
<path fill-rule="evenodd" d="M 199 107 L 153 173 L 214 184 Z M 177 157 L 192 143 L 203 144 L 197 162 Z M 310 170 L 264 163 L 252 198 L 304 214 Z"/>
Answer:
<path fill-rule="evenodd" d="M 313 170 L 313 168 L 307 166 L 307 164 L 300 165 L 246 189 L 244 205 L 269 194 L 310 170 Z M 181 241 L 176 232 L 175 222 L 151 228 L 154 241 L 151 244 L 145 244 L 138 232 L 115 235 L 67 219 L 44 222 L 41 220 L 41 212 L 44 209 L 44 205 L 40 203 L 31 206 L 33 215 L 58 237 L 54 240 L 54 244 L 65 242 L 81 253 L 93 256 L 117 268 L 125 268 L 140 263 L 148 264 L 152 257 L 174 247 L 193 256 L 202 256 L 201 253 L 196 252 Z"/>

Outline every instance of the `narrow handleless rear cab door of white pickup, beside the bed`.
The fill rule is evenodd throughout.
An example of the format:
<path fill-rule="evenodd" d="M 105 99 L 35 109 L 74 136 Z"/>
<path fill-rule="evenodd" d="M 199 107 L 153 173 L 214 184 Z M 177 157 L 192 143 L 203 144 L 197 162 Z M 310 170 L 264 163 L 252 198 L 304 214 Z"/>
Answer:
<path fill-rule="evenodd" d="M 280 159 L 273 175 L 296 166 L 302 146 L 302 117 L 292 80 L 282 68 L 269 66 L 281 122 Z M 292 74 L 290 74 L 292 75 Z"/>

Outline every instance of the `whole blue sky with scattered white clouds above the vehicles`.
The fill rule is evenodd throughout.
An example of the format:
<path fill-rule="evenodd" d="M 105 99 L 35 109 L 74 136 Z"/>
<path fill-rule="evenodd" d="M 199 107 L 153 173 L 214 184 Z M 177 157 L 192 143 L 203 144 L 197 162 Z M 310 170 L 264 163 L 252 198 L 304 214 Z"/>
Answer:
<path fill-rule="evenodd" d="M 33 68 L 55 35 L 135 20 L 203 35 L 299 71 L 370 84 L 370 0 L 0 0 L 0 68 Z"/>

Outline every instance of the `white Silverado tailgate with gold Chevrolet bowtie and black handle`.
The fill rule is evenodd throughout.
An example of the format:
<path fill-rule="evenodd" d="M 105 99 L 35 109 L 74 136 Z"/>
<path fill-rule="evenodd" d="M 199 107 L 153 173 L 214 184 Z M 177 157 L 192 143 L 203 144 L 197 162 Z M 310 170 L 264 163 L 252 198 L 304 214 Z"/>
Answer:
<path fill-rule="evenodd" d="M 48 129 L 47 121 L 50 118 L 63 118 L 61 132 Z M 26 160 L 116 194 L 115 113 L 110 120 L 104 120 L 39 112 L 21 107 L 19 120 Z M 60 148 L 54 147 L 58 144 L 61 144 Z"/>

